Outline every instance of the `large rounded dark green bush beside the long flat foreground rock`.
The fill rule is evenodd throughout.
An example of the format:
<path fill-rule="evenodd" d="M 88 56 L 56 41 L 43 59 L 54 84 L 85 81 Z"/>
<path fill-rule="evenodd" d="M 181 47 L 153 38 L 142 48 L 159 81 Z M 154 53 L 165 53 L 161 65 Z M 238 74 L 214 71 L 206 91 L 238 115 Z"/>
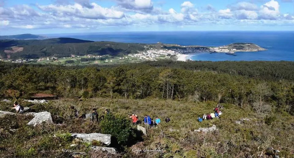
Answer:
<path fill-rule="evenodd" d="M 131 130 L 130 121 L 122 116 L 115 116 L 112 113 L 104 116 L 100 122 L 101 132 L 110 134 L 115 137 L 120 145 L 126 145 L 128 140 L 134 138 L 134 133 Z"/>

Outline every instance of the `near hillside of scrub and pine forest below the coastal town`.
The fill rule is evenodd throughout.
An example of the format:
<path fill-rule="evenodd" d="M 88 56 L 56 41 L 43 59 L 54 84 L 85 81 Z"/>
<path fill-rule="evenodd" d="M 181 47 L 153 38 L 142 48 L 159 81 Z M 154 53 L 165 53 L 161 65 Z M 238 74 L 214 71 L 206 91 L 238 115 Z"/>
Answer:
<path fill-rule="evenodd" d="M 16 115 L 12 102 L 0 102 L 0 157 L 272 157 L 274 150 L 293 157 L 294 82 L 285 79 L 292 64 L 150 62 L 98 68 L 0 62 L 0 99 L 17 99 L 52 118 L 34 127 L 28 125 L 34 113 Z M 285 71 L 272 75 L 280 70 Z M 59 99 L 42 105 L 24 100 L 36 94 Z M 218 103 L 224 106 L 219 118 L 197 121 Z M 75 119 L 70 106 L 78 116 L 97 108 L 98 121 Z M 131 123 L 131 113 L 146 135 Z M 145 115 L 161 123 L 148 127 Z M 166 117 L 171 121 L 165 123 Z M 109 134 L 111 143 L 81 142 L 70 133 Z"/>

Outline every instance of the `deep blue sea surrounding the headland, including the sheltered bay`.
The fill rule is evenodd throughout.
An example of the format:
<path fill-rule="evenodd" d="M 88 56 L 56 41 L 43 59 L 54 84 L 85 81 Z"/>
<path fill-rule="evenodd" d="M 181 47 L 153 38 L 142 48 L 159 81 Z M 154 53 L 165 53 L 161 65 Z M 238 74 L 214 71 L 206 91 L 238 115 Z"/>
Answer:
<path fill-rule="evenodd" d="M 202 61 L 294 61 L 293 31 L 173 31 L 173 32 L 107 32 L 79 34 L 47 34 L 49 37 L 69 37 L 91 41 L 115 41 L 153 44 L 162 42 L 179 45 L 222 46 L 235 42 L 250 42 L 266 48 L 261 52 L 198 53 L 192 60 Z"/>

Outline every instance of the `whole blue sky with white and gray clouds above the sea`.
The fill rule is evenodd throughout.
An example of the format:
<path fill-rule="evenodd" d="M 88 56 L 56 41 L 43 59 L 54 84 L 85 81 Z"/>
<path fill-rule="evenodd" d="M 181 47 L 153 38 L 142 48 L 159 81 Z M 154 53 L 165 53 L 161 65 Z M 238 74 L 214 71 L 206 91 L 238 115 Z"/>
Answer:
<path fill-rule="evenodd" d="M 0 0 L 0 34 L 285 31 L 293 0 Z"/>

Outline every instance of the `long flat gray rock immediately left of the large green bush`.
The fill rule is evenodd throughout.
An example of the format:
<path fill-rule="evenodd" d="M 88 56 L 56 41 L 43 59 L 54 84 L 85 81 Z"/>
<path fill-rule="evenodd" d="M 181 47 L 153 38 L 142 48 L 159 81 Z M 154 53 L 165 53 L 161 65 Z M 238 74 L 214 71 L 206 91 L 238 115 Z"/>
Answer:
<path fill-rule="evenodd" d="M 92 142 L 93 140 L 100 141 L 106 145 L 111 143 L 111 135 L 104 135 L 101 133 L 71 133 L 74 138 L 81 138 L 84 142 Z"/>

